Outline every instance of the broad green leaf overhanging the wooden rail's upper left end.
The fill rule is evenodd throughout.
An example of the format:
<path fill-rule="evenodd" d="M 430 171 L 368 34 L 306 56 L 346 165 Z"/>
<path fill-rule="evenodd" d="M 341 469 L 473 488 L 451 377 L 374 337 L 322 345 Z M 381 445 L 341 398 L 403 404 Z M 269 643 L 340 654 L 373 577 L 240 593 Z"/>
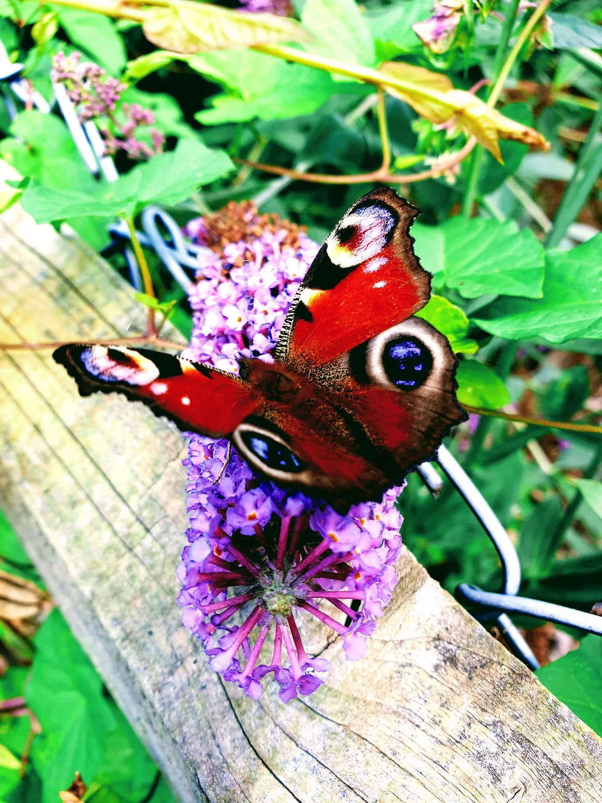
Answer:
<path fill-rule="evenodd" d="M 151 203 L 173 206 L 184 201 L 199 185 L 214 181 L 230 169 L 232 162 L 224 151 L 185 139 L 174 151 L 137 165 L 112 184 L 96 185 L 87 194 L 79 190 L 49 190 L 32 182 L 23 193 L 22 206 L 39 223 L 90 215 L 132 215 Z"/>

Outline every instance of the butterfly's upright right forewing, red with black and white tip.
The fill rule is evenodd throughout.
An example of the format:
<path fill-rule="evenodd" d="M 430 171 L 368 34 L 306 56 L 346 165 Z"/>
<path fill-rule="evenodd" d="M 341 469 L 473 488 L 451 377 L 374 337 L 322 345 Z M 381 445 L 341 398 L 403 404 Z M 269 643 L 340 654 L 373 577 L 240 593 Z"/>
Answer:
<path fill-rule="evenodd" d="M 383 187 L 344 214 L 299 287 L 276 359 L 312 375 L 354 346 L 424 307 L 430 275 L 413 253 L 419 210 Z"/>

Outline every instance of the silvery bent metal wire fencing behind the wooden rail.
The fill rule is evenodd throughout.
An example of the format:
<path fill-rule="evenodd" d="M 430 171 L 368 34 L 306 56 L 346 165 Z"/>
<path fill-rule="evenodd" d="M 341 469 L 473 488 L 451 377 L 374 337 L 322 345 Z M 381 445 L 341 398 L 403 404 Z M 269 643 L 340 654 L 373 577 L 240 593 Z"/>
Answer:
<path fill-rule="evenodd" d="M 116 181 L 119 175 L 112 158 L 104 156 L 104 143 L 96 124 L 93 121 L 83 125 L 79 122 L 75 108 L 61 84 L 55 85 L 55 100 L 49 104 L 39 92 L 33 90 L 26 79 L 21 77 L 21 70 L 21 64 L 10 62 L 6 49 L 0 42 L 0 92 L 6 101 L 6 108 L 11 118 L 18 113 L 15 101 L 38 108 L 43 113 L 50 112 L 54 104 L 58 104 L 71 137 L 92 175 L 99 179 L 103 177 L 106 181 Z M 188 293 L 193 286 L 198 256 L 209 249 L 187 242 L 177 222 L 158 206 L 147 206 L 141 214 L 141 223 L 143 230 L 137 232 L 140 244 L 155 251 L 173 278 Z M 137 291 L 141 291 L 140 267 L 130 245 L 127 226 L 124 222 L 118 221 L 108 226 L 108 231 L 112 243 L 104 249 L 103 255 L 108 256 L 116 251 L 122 251 L 128 265 L 130 282 Z M 545 619 L 547 622 L 555 622 L 602 636 L 600 616 L 567 608 L 564 605 L 518 596 L 521 583 L 519 556 L 502 523 L 446 446 L 440 446 L 437 450 L 436 462 L 490 537 L 502 564 L 503 582 L 499 593 L 484 591 L 476 585 L 466 583 L 458 585 L 456 597 L 474 612 L 475 618 L 488 626 L 495 622 L 506 644 L 532 670 L 539 668 L 539 662 L 523 634 L 510 619 L 509 613 Z M 433 463 L 421 463 L 417 467 L 417 474 L 430 493 L 437 497 L 443 487 L 443 481 L 435 471 Z"/>

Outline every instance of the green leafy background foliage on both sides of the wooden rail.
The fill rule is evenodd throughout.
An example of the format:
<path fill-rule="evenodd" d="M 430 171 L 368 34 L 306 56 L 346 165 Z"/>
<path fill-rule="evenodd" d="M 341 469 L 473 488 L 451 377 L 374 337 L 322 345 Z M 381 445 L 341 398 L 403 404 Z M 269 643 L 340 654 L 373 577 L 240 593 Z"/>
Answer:
<path fill-rule="evenodd" d="M 602 600 L 600 434 L 563 430 L 554 422 L 596 424 L 602 406 L 602 234 L 596 234 L 602 206 L 602 15 L 596 2 L 540 3 L 547 15 L 519 47 L 499 96 L 506 120 L 534 128 L 550 149 L 530 152 L 534 137 L 502 138 L 498 161 L 497 135 L 486 139 L 483 131 L 490 128 L 480 108 L 476 125 L 487 147 L 478 145 L 463 161 L 423 181 L 414 181 L 413 173 L 462 149 L 467 129 L 454 124 L 459 118 L 433 123 L 432 108 L 417 112 L 415 90 L 428 81 L 416 68 L 439 76 L 434 80 L 440 88 L 445 79 L 458 90 L 476 88 L 476 96 L 486 100 L 490 84 L 482 81 L 500 75 L 535 13 L 531 8 L 514 0 L 452 3 L 455 27 L 444 41 L 433 34 L 431 0 L 368 0 L 362 6 L 353 0 L 294 0 L 284 10 L 311 36 L 297 37 L 301 29 L 291 18 L 279 18 L 273 29 L 291 26 L 290 38 L 303 43 L 295 52 L 307 55 L 310 66 L 268 55 L 267 46 L 234 48 L 269 39 L 259 23 L 254 26 L 252 0 L 246 5 L 247 22 L 228 22 L 230 39 L 221 44 L 226 49 L 216 50 L 203 40 L 206 26 L 199 23 L 202 14 L 216 13 L 209 6 L 198 5 L 189 17 L 180 10 L 176 18 L 170 10 L 165 21 L 165 8 L 153 10 L 150 3 L 143 27 L 136 18 L 112 20 L 63 4 L 0 0 L 0 40 L 10 62 L 24 65 L 32 88 L 51 100 L 53 55 L 81 51 L 128 84 L 122 101 L 151 109 L 153 126 L 166 139 L 166 152 L 140 165 L 118 152 L 119 181 L 97 182 L 61 118 L 26 109 L 11 120 L 14 98 L 6 90 L 0 99 L 0 155 L 27 181 L 2 190 L 2 202 L 22 197 L 37 220 L 56 226 L 66 221 L 98 250 L 109 243 L 108 222 L 118 214 L 132 220 L 148 203 L 160 203 L 184 224 L 249 198 L 260 211 L 303 224 L 322 241 L 344 210 L 372 189 L 390 149 L 388 171 L 393 180 L 409 175 L 398 181 L 400 191 L 422 210 L 412 234 L 433 273 L 436 295 L 421 315 L 449 336 L 458 353 L 461 401 L 551 422 L 471 415 L 449 447 L 517 544 L 521 593 L 592 609 Z M 429 20 L 425 44 L 412 25 Z M 379 107 L 373 86 L 316 68 L 324 56 L 351 72 L 393 60 L 413 88 L 388 94 Z M 440 105 L 436 111 L 441 113 Z M 384 138 L 380 112 L 386 114 Z M 140 136 L 148 139 L 148 132 Z M 240 159 L 285 174 L 275 177 Z M 291 180 L 290 169 L 326 177 L 318 183 Z M 181 288 L 153 254 L 146 256 L 158 303 L 175 300 L 173 321 L 188 333 Z M 120 256 L 111 259 L 127 275 Z M 449 487 L 433 500 L 410 475 L 401 508 L 405 544 L 446 589 L 453 592 L 464 581 L 498 590 L 494 549 Z M 6 522 L 0 524 L 0 552 L 7 571 L 39 581 Z M 518 623 L 530 630 L 541 624 Z M 6 633 L 5 628 L 5 640 Z M 547 634 L 543 646 L 531 639 L 543 662 L 561 641 L 553 629 Z M 570 636 L 576 646 L 582 634 Z M 26 748 L 29 719 L 0 719 L 0 797 L 6 803 L 56 801 L 78 769 L 88 785 L 87 800 L 171 800 L 58 611 L 22 649 L 21 658 L 6 662 L 2 697 L 24 695 L 42 732 L 33 739 L 20 780 L 18 757 Z M 601 666 L 602 641 L 588 636 L 539 677 L 602 734 Z"/>

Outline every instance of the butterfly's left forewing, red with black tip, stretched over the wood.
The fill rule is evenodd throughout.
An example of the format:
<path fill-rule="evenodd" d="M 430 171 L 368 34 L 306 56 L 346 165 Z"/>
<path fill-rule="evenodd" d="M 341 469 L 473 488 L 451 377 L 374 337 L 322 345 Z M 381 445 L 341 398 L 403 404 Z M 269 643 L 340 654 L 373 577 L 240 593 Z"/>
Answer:
<path fill-rule="evenodd" d="M 72 343 L 53 357 L 82 396 L 123 393 L 181 430 L 214 438 L 229 435 L 261 402 L 258 391 L 234 374 L 150 349 Z"/>

